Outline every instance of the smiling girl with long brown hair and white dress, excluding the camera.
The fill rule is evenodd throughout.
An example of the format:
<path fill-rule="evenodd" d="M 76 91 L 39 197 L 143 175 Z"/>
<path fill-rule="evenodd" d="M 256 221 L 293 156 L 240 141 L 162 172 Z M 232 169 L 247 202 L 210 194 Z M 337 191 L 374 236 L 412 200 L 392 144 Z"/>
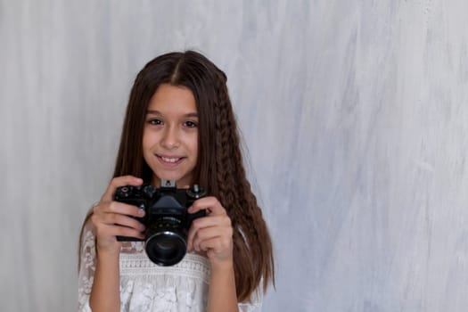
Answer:
<path fill-rule="evenodd" d="M 198 184 L 209 196 L 187 235 L 185 258 L 158 267 L 132 217 L 144 210 L 113 201 L 117 187 L 160 179 L 178 187 Z M 152 60 L 130 93 L 111 184 L 82 226 L 79 247 L 80 311 L 259 311 L 274 282 L 272 244 L 250 190 L 226 75 L 193 51 Z M 260 285 L 261 284 L 261 285 Z"/>

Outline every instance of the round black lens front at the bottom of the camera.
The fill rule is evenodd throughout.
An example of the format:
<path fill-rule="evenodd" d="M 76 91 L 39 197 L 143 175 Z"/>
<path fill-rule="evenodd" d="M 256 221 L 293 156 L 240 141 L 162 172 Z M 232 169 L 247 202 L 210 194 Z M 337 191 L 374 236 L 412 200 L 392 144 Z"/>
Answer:
<path fill-rule="evenodd" d="M 148 237 L 145 250 L 148 258 L 157 265 L 174 266 L 184 258 L 187 245 L 183 234 L 164 231 Z"/>

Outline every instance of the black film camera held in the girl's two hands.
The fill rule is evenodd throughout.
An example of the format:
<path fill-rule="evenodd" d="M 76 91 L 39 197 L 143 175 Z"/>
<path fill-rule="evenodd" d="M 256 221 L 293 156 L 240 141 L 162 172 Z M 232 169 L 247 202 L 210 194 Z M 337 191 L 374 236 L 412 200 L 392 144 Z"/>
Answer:
<path fill-rule="evenodd" d="M 144 217 L 136 219 L 146 230 L 144 240 L 127 236 L 117 236 L 117 240 L 144 241 L 144 249 L 152 262 L 160 266 L 177 264 L 187 252 L 187 233 L 192 221 L 206 216 L 205 210 L 190 214 L 187 209 L 204 195 L 199 185 L 178 189 L 173 180 L 161 180 L 159 188 L 153 185 L 118 187 L 114 200 L 144 209 Z"/>

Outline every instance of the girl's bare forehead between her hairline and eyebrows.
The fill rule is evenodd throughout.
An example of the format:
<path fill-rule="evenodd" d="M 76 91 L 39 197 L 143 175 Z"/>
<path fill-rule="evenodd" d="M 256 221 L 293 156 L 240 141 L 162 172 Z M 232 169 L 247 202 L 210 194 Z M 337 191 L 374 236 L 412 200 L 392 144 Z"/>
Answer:
<path fill-rule="evenodd" d="M 152 95 L 148 111 L 196 112 L 197 107 L 192 91 L 185 86 L 163 84 Z"/>

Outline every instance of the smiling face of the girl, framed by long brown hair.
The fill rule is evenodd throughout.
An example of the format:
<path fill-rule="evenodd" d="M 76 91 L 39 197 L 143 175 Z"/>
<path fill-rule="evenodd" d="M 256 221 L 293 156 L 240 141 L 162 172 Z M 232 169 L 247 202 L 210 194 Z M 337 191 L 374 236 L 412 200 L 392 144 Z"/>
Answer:
<path fill-rule="evenodd" d="M 143 133 L 144 160 L 152 168 L 152 183 L 176 180 L 192 185 L 198 156 L 198 112 L 192 91 L 163 84 L 152 95 Z"/>

